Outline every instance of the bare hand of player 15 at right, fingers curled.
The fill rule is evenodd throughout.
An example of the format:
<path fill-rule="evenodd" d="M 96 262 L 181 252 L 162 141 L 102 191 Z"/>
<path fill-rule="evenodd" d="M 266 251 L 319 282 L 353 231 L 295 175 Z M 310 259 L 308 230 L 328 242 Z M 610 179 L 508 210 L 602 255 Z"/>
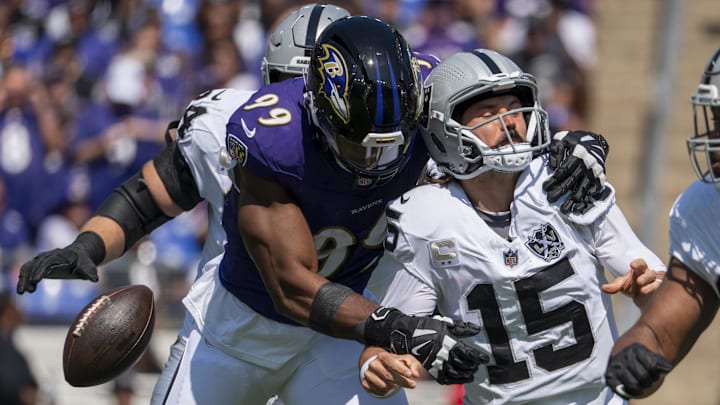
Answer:
<path fill-rule="evenodd" d="M 611 283 L 604 284 L 600 288 L 607 294 L 622 292 L 632 298 L 638 308 L 642 308 L 660 286 L 664 277 L 665 272 L 649 269 L 645 260 L 635 259 L 630 262 L 630 271 L 627 274 L 615 278 Z"/>

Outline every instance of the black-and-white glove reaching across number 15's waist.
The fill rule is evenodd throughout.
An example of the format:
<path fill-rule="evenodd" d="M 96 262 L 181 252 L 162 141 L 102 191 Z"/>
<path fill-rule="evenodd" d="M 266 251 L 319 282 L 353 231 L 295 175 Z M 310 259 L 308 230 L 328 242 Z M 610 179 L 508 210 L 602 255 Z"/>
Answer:
<path fill-rule="evenodd" d="M 443 317 L 408 316 L 380 307 L 365 322 L 365 341 L 396 354 L 412 354 L 440 384 L 472 382 L 486 353 L 460 341 L 477 335 L 480 327 Z"/>

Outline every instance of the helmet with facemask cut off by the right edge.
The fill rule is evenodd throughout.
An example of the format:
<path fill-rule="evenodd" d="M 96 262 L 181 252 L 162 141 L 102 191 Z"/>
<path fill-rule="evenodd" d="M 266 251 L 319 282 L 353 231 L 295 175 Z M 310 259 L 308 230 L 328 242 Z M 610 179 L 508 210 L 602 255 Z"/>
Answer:
<path fill-rule="evenodd" d="M 720 48 L 708 61 L 690 102 L 695 121 L 695 135 L 687 140 L 690 161 L 700 180 L 720 189 Z"/>

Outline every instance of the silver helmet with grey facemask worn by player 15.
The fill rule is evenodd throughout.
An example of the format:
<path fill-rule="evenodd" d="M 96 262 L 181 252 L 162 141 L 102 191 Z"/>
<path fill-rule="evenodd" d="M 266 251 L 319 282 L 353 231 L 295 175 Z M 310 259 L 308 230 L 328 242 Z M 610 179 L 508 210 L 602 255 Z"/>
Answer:
<path fill-rule="evenodd" d="M 517 96 L 522 107 L 472 127 L 460 124 L 459 114 L 474 100 L 506 94 Z M 424 96 L 420 132 L 438 167 L 455 178 L 470 179 L 489 170 L 523 170 L 550 143 L 535 78 L 497 52 L 476 49 L 448 57 L 425 80 Z M 526 141 L 520 143 L 512 140 L 504 120 L 517 113 L 527 124 Z M 509 144 L 493 149 L 472 131 L 495 120 L 502 123 Z"/>

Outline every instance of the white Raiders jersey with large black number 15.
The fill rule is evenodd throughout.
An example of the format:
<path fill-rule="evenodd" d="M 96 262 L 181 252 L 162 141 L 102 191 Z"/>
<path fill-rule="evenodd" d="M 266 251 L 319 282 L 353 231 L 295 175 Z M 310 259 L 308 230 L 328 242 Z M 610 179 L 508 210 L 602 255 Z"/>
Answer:
<path fill-rule="evenodd" d="M 538 158 L 519 178 L 509 240 L 459 183 L 419 186 L 388 207 L 385 243 L 399 271 L 382 304 L 414 315 L 437 308 L 482 326 L 468 339 L 491 361 L 465 385 L 466 403 L 623 403 L 604 382 L 617 329 L 600 289 L 603 268 L 623 275 L 638 257 L 665 266 L 636 237 L 614 191 L 579 225 L 547 202 L 548 177 Z"/>

